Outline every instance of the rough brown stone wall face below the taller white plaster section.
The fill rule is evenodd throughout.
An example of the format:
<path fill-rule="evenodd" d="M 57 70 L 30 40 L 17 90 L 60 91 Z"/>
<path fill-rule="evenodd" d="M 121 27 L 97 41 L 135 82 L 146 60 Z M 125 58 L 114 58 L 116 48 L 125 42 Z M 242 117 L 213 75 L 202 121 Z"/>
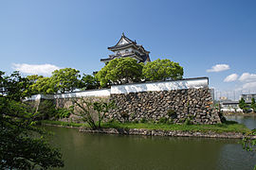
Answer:
<path fill-rule="evenodd" d="M 161 92 L 112 93 L 117 108 L 108 113 L 107 120 L 120 122 L 170 122 L 192 124 L 221 123 L 209 88 Z"/>

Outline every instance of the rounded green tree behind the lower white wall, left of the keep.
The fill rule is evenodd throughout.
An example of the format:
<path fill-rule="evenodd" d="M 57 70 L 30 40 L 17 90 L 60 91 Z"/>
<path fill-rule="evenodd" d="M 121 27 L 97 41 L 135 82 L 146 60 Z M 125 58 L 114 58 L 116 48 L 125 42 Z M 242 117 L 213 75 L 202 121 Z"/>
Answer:
<path fill-rule="evenodd" d="M 73 92 L 79 87 L 80 71 L 72 68 L 64 68 L 52 72 L 51 80 L 61 93 Z"/>

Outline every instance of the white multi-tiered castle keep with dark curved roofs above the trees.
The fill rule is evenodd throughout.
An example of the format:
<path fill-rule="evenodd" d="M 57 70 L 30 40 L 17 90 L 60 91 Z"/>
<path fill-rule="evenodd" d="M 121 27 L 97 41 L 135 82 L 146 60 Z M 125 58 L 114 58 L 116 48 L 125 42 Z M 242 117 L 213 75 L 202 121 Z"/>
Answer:
<path fill-rule="evenodd" d="M 119 42 L 110 46 L 107 49 L 114 52 L 113 55 L 109 55 L 106 59 L 101 59 L 102 62 L 108 62 L 111 59 L 119 59 L 119 58 L 133 58 L 137 59 L 137 62 L 147 62 L 150 61 L 149 54 L 150 52 L 145 50 L 144 47 L 140 44 L 137 44 L 136 41 L 132 41 L 124 36 L 122 33 Z"/>

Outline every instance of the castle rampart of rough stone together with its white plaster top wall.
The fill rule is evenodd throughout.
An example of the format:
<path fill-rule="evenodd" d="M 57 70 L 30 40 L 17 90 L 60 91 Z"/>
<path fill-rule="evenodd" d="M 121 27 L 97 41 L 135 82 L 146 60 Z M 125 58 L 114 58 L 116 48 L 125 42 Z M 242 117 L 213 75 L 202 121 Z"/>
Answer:
<path fill-rule="evenodd" d="M 115 100 L 117 108 L 107 114 L 105 121 L 221 123 L 217 110 L 213 110 L 208 77 L 116 85 L 110 89 L 74 93 L 37 94 L 27 101 L 40 103 L 50 99 L 56 108 L 69 108 L 74 105 L 74 99 L 81 97 Z M 37 108 L 39 103 L 34 102 Z"/>

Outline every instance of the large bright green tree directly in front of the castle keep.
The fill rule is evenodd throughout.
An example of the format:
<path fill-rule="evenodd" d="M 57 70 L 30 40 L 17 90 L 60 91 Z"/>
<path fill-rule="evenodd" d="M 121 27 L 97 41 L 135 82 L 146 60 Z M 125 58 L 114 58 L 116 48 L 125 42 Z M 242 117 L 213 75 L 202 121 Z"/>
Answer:
<path fill-rule="evenodd" d="M 137 59 L 112 59 L 96 74 L 96 77 L 99 79 L 101 87 L 111 83 L 137 82 L 141 79 L 142 68 L 142 64 L 137 63 Z"/>

